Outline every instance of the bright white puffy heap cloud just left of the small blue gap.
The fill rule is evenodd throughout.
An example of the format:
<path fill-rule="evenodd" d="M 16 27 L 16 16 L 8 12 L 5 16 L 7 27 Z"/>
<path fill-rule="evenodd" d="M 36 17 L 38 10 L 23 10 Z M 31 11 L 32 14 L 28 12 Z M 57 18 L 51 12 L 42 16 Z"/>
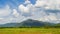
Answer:
<path fill-rule="evenodd" d="M 29 13 L 30 9 L 32 9 L 31 7 L 33 7 L 33 5 L 31 4 L 31 2 L 29 0 L 26 0 L 24 4 L 20 4 L 18 6 L 19 11 L 23 12 L 23 13 Z"/>

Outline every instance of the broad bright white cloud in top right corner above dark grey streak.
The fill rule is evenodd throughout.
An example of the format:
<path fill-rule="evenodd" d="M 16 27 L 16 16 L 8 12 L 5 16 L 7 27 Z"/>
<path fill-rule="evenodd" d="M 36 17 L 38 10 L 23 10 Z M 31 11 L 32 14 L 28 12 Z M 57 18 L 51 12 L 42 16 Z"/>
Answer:
<path fill-rule="evenodd" d="M 60 10 L 60 0 L 37 0 L 35 6 Z"/>

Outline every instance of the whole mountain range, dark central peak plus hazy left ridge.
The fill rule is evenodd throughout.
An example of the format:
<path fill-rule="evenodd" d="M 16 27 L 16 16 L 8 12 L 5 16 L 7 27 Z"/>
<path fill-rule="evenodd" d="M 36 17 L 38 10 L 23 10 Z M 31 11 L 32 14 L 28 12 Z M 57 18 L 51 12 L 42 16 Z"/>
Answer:
<path fill-rule="evenodd" d="M 0 25 L 0 27 L 42 27 L 42 26 L 50 26 L 50 25 L 52 25 L 52 23 L 28 19 L 21 23 L 3 24 L 3 25 Z"/>

